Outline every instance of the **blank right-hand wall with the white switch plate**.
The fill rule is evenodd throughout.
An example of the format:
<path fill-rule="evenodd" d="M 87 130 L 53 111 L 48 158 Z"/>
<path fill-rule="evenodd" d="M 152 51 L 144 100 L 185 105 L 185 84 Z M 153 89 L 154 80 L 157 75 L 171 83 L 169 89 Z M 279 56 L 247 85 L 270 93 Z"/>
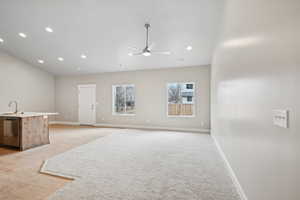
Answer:
<path fill-rule="evenodd" d="M 300 1 L 226 0 L 212 135 L 249 200 L 300 199 Z M 272 124 L 290 110 L 290 128 Z"/>

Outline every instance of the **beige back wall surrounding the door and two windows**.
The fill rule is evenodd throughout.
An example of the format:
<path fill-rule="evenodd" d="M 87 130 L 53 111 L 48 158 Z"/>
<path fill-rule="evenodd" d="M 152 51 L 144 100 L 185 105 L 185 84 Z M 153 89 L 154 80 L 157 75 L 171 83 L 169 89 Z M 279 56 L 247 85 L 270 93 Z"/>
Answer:
<path fill-rule="evenodd" d="M 196 83 L 196 116 L 167 117 L 169 82 Z M 56 77 L 56 111 L 59 121 L 78 122 L 79 84 L 97 86 L 97 123 L 113 125 L 158 126 L 189 129 L 210 127 L 210 67 L 185 67 L 142 70 L 96 75 Z M 135 84 L 136 115 L 112 115 L 112 85 Z"/>

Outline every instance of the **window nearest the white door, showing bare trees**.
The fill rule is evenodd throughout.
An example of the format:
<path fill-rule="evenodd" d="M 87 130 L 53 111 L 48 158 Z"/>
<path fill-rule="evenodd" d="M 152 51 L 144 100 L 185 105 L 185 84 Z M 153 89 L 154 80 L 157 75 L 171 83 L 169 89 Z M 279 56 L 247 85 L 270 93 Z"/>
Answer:
<path fill-rule="evenodd" d="M 113 86 L 113 114 L 135 114 L 135 87 L 134 85 Z"/>

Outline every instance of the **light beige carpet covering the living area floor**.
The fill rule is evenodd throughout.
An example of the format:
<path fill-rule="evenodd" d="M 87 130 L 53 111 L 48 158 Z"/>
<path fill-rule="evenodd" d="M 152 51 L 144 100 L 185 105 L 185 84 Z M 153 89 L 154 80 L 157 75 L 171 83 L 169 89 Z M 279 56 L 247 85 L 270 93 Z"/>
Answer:
<path fill-rule="evenodd" d="M 207 134 L 124 130 L 48 160 L 74 177 L 52 200 L 239 200 Z"/>

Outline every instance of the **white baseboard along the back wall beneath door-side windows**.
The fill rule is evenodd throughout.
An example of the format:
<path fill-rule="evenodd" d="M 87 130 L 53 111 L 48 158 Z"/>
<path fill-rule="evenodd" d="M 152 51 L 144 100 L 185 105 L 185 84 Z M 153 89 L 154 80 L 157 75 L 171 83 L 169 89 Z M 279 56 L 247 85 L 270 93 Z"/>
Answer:
<path fill-rule="evenodd" d="M 65 122 L 65 121 L 52 121 L 49 124 L 59 125 L 80 125 L 79 122 Z M 210 133 L 209 129 L 189 129 L 189 128 L 171 128 L 171 127 L 160 127 L 160 126 L 142 126 L 142 125 L 124 125 L 124 124 L 106 124 L 97 123 L 95 127 L 106 127 L 106 128 L 128 128 L 128 129 L 145 129 L 145 130 L 163 130 L 163 131 L 183 131 L 183 132 L 196 132 L 196 133 Z"/>

